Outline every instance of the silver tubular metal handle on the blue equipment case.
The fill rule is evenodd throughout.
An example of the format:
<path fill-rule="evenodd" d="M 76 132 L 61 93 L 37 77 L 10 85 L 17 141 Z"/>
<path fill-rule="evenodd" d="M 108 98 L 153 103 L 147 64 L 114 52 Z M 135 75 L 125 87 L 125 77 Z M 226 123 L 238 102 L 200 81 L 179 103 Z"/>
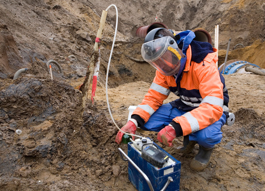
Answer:
<path fill-rule="evenodd" d="M 130 159 L 130 157 L 128 157 L 125 154 L 125 152 L 123 152 L 123 150 L 121 148 L 118 148 L 118 151 L 119 151 L 121 159 L 124 160 L 124 161 L 130 162 L 131 165 L 133 165 L 134 168 L 136 168 L 136 170 L 144 177 L 145 181 L 147 182 L 147 184 L 149 186 L 150 191 L 154 191 L 153 186 L 152 186 L 149 178 L 146 176 L 146 174 L 134 163 L 134 161 L 132 161 Z M 124 158 L 123 156 L 125 156 L 126 158 Z M 169 176 L 167 181 L 166 181 L 166 184 L 164 185 L 164 187 L 160 191 L 165 191 L 170 182 L 173 182 L 173 178 Z"/>

